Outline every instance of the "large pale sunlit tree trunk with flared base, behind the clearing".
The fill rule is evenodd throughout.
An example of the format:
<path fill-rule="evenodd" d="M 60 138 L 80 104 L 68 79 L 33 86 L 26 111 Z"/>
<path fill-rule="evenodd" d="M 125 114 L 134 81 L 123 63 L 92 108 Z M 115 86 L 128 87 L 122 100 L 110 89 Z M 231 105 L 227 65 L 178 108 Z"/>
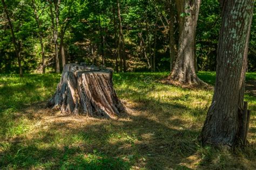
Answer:
<path fill-rule="evenodd" d="M 179 46 L 177 59 L 169 79 L 185 83 L 203 83 L 194 67 L 194 47 L 201 0 L 176 0 L 179 17 Z"/>

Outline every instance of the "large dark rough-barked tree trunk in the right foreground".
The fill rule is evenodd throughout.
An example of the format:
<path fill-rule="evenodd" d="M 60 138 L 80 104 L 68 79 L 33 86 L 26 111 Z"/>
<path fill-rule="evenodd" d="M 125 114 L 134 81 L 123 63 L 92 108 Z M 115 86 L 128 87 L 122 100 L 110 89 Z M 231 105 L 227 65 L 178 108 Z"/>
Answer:
<path fill-rule="evenodd" d="M 216 83 L 201 136 L 204 144 L 232 146 L 245 144 L 250 119 L 244 86 L 254 1 L 225 0 L 220 5 Z"/>

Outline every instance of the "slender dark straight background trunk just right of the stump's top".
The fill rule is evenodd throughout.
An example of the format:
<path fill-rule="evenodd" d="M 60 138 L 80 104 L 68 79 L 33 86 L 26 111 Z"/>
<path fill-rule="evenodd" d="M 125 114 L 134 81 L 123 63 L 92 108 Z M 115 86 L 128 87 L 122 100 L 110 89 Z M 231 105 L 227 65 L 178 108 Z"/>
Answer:
<path fill-rule="evenodd" d="M 118 22 L 119 22 L 119 43 L 118 43 L 118 49 L 120 57 L 120 70 L 121 72 L 126 72 L 126 56 L 125 56 L 125 48 L 124 48 L 124 34 L 122 29 L 122 19 L 120 14 L 120 2 L 117 0 L 117 13 L 118 13 Z M 121 67 L 122 66 L 122 67 Z"/>

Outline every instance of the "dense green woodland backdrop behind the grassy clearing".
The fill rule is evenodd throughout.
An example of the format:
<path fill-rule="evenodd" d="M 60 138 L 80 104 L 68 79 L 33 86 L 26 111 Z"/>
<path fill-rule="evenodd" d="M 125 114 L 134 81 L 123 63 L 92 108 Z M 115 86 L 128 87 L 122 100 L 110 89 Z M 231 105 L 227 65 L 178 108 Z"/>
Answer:
<path fill-rule="evenodd" d="M 25 73 L 43 72 L 42 44 L 46 72 L 56 71 L 56 53 L 60 69 L 63 63 L 86 62 L 112 67 L 119 72 L 169 71 L 170 62 L 173 62 L 170 25 L 173 29 L 172 51 L 177 51 L 178 17 L 190 15 L 183 12 L 178 16 L 173 2 L 15 0 L 5 1 L 5 7 Z M 18 58 L 3 3 L 0 3 L 0 16 L 0 72 L 18 73 Z M 256 68 L 255 19 L 254 16 L 248 70 Z M 219 2 L 202 1 L 196 29 L 197 70 L 216 69 L 220 22 Z M 56 53 L 54 33 L 57 36 Z"/>

